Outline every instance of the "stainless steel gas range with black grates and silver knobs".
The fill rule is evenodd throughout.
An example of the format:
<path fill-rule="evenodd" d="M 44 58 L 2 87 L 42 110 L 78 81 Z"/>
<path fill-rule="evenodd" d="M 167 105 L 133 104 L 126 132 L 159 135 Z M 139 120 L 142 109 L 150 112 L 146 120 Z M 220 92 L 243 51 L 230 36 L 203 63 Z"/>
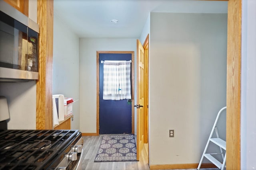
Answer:
<path fill-rule="evenodd" d="M 78 130 L 0 130 L 0 170 L 80 170 Z"/>

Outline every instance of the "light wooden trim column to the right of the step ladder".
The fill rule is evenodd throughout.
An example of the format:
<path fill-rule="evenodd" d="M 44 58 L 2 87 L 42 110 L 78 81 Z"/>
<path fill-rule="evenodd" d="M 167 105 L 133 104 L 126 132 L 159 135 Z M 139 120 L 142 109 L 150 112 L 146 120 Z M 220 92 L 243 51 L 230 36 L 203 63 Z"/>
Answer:
<path fill-rule="evenodd" d="M 241 169 L 242 0 L 228 1 L 226 169 Z"/>

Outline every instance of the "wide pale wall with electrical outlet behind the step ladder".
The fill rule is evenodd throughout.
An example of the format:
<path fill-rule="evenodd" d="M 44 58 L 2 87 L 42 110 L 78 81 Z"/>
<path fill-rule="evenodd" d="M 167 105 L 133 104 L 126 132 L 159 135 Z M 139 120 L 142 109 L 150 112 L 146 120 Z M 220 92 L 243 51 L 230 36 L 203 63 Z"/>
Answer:
<path fill-rule="evenodd" d="M 227 14 L 151 13 L 150 165 L 199 162 L 226 106 L 226 30 Z"/>

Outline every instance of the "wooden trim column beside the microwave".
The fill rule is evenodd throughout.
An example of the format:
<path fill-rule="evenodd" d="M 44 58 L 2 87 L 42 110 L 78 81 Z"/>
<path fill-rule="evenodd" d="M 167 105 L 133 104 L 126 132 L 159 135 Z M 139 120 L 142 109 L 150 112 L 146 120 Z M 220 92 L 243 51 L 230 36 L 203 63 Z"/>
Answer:
<path fill-rule="evenodd" d="M 53 0 L 37 1 L 38 72 L 36 82 L 36 129 L 53 129 L 52 120 L 52 56 Z"/>

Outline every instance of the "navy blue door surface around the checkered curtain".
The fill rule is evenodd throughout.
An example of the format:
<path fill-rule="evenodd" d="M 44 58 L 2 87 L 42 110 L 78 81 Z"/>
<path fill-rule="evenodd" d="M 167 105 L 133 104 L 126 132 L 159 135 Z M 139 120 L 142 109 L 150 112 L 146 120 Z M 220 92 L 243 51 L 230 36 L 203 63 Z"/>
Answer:
<path fill-rule="evenodd" d="M 100 53 L 100 61 L 132 60 L 131 54 Z M 131 70 L 132 72 L 133 70 Z M 103 100 L 103 63 L 100 63 L 100 134 L 132 133 L 132 106 L 127 99 Z"/>

